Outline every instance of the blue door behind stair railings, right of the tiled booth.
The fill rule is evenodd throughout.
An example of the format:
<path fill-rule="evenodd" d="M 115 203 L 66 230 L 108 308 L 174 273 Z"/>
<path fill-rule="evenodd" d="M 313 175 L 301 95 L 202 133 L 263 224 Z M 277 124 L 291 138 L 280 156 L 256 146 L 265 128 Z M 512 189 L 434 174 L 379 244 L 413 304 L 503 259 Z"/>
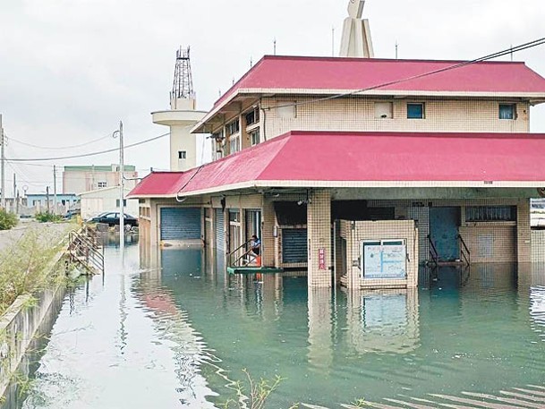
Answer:
<path fill-rule="evenodd" d="M 439 260 L 456 260 L 460 257 L 458 226 L 460 208 L 430 208 L 430 235 Z"/>

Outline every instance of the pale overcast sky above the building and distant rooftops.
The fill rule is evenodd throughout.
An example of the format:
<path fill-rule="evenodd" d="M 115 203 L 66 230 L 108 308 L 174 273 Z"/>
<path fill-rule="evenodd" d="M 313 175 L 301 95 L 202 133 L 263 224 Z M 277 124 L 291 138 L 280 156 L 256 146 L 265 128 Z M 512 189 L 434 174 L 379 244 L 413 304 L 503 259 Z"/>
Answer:
<path fill-rule="evenodd" d="M 51 158 L 115 148 L 123 120 L 125 143 L 167 132 L 150 112 L 168 108 L 175 50 L 192 47 L 198 107 L 209 110 L 235 79 L 272 54 L 336 52 L 348 0 L 2 0 L 0 113 L 7 158 Z M 473 59 L 545 37 L 543 0 L 367 0 L 375 56 Z M 504 59 L 509 59 L 504 58 Z M 545 75 L 545 47 L 515 55 Z M 532 132 L 545 132 L 545 107 L 532 110 Z M 16 140 L 16 141 L 15 141 Z M 127 149 L 143 175 L 168 168 L 168 141 Z M 116 154 L 6 166 L 29 192 L 52 185 L 53 164 L 107 165 Z M 41 165 L 41 166 L 37 166 Z M 44 166 L 47 165 L 47 166 Z M 60 179 L 60 175 L 59 175 Z"/>

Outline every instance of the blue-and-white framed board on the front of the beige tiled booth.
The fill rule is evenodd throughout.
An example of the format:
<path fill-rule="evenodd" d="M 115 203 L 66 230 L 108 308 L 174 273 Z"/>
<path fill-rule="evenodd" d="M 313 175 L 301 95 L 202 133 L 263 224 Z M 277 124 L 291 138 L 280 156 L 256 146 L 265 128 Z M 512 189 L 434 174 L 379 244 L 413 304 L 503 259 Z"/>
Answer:
<path fill-rule="evenodd" d="M 362 278 L 405 278 L 407 248 L 404 240 L 362 242 Z"/>

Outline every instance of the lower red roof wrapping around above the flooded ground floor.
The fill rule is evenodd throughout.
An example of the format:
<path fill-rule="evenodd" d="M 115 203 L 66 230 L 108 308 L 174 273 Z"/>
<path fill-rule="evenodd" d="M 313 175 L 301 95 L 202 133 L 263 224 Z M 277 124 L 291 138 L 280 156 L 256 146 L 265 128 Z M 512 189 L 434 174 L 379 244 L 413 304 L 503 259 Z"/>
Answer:
<path fill-rule="evenodd" d="M 544 152 L 545 134 L 289 132 L 185 173 L 153 173 L 130 196 L 289 185 L 538 187 Z"/>

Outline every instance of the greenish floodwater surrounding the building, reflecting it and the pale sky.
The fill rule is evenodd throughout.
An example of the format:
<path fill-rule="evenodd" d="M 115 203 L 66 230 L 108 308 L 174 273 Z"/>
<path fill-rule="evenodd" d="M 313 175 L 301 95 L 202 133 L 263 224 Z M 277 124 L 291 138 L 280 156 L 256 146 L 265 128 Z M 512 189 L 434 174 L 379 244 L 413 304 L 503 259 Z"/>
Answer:
<path fill-rule="evenodd" d="M 445 268 L 418 291 L 307 290 L 227 277 L 200 250 L 106 249 L 69 291 L 14 408 L 207 408 L 243 369 L 284 380 L 270 408 L 545 385 L 545 269 Z"/>

